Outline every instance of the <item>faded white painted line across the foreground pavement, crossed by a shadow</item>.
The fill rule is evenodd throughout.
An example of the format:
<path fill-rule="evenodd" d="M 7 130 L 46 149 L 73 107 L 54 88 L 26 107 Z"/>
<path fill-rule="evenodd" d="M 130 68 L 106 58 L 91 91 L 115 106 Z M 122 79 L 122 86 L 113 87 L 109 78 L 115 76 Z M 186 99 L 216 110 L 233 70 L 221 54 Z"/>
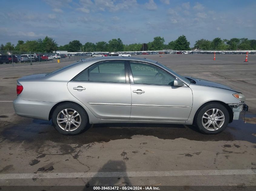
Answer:
<path fill-rule="evenodd" d="M 32 178 L 93 178 L 93 177 L 168 177 L 168 176 L 211 176 L 211 175 L 256 175 L 255 169 L 248 170 L 175 170 L 142 172 L 82 172 L 82 173 L 13 173 L 0 174 L 0 179 Z"/>

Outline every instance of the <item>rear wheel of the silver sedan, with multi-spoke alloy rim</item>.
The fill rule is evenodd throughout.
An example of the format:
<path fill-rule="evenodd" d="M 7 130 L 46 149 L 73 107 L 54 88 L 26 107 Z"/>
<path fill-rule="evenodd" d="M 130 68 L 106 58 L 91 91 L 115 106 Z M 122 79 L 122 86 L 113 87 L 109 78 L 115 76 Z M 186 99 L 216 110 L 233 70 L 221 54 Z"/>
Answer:
<path fill-rule="evenodd" d="M 65 117 L 64 114 L 67 114 L 67 113 L 69 116 L 66 115 L 67 117 Z M 72 120 L 72 114 L 74 114 L 75 116 L 77 116 L 77 114 L 79 115 L 73 118 Z M 71 122 L 67 123 L 70 120 Z M 83 132 L 85 128 L 88 127 L 88 121 L 89 121 L 88 114 L 86 113 L 85 109 L 76 103 L 63 103 L 58 107 L 56 107 L 52 114 L 52 123 L 54 128 L 63 135 L 77 135 Z M 68 131 L 69 124 L 70 124 L 70 131 Z"/>

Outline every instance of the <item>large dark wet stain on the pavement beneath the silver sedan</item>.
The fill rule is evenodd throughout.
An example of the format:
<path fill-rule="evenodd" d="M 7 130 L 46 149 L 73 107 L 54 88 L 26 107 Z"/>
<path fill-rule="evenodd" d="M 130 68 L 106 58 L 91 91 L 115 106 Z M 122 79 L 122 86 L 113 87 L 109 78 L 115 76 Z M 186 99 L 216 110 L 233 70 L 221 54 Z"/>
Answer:
<path fill-rule="evenodd" d="M 250 116 L 251 117 L 251 116 Z M 205 135 L 198 131 L 195 126 L 181 124 L 148 124 L 148 123 L 107 123 L 94 124 L 85 132 L 75 136 L 64 136 L 58 133 L 52 126 L 51 121 L 39 119 L 25 119 L 20 125 L 7 123 L 5 129 L 0 132 L 0 138 L 10 142 L 25 142 L 24 147 L 28 150 L 42 151 L 42 145 L 46 141 L 61 143 L 56 154 L 71 154 L 75 150 L 70 144 L 79 146 L 88 144 L 85 149 L 90 149 L 95 142 L 109 142 L 117 139 L 131 139 L 134 135 L 155 136 L 160 139 L 186 138 L 194 141 L 234 141 L 242 140 L 256 143 L 255 125 L 243 120 L 234 120 L 233 123 L 216 135 Z M 120 128 L 121 127 L 121 128 Z M 42 133 L 44 132 L 44 133 Z M 32 143 L 32 144 L 29 144 Z M 63 144 L 65 143 L 65 144 Z M 146 142 L 140 143 L 145 145 Z M 47 148 L 45 148 L 47 149 Z M 47 154 L 39 152 L 38 154 Z"/>

